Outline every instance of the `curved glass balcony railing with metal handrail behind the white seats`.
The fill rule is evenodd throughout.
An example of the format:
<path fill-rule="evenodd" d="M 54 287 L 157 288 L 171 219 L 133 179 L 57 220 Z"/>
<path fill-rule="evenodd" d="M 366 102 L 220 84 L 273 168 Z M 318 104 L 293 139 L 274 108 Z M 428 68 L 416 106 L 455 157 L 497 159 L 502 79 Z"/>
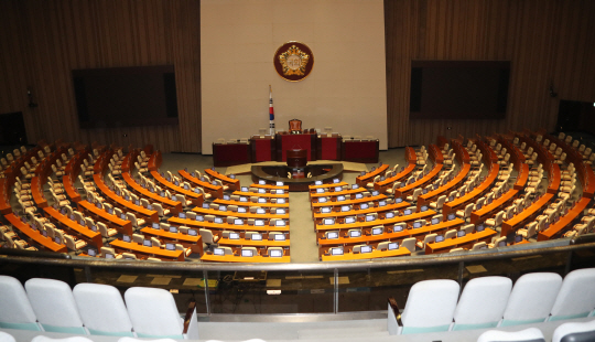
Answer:
<path fill-rule="evenodd" d="M 595 236 L 558 239 L 473 253 L 369 261 L 316 264 L 206 264 L 106 260 L 0 249 L 0 274 L 30 278 L 156 287 L 172 293 L 181 312 L 194 299 L 202 316 L 307 314 L 386 310 L 387 297 L 404 306 L 411 286 L 476 277 L 518 277 L 536 271 L 565 276 L 595 265 Z M 536 248 L 536 247 L 540 248 Z"/>

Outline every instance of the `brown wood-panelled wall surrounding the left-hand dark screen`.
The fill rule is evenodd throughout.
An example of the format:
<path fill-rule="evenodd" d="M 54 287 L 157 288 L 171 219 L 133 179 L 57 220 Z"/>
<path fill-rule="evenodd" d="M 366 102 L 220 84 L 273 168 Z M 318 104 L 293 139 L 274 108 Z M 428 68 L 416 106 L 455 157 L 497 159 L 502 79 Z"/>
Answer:
<path fill-rule="evenodd" d="M 0 113 L 25 113 L 30 141 L 199 152 L 199 8 L 196 0 L 1 1 Z M 163 64 L 175 66 L 178 126 L 78 128 L 72 70 Z M 37 108 L 26 107 L 28 85 Z"/>

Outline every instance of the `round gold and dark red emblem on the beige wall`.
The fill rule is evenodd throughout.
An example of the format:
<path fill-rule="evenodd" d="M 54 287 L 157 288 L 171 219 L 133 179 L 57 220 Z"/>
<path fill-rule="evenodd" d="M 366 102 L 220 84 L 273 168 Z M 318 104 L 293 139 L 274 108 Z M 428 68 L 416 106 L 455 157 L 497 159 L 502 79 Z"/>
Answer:
<path fill-rule="evenodd" d="M 314 67 L 314 55 L 306 44 L 288 42 L 277 49 L 273 57 L 274 70 L 283 79 L 300 82 L 306 78 Z"/>

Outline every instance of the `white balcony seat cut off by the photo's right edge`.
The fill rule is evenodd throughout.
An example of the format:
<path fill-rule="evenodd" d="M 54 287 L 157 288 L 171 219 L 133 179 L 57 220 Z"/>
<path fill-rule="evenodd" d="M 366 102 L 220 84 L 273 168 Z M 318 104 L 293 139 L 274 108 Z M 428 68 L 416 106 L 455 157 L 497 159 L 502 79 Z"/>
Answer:
<path fill-rule="evenodd" d="M 564 278 L 549 321 L 587 317 L 595 309 L 595 268 L 576 269 Z"/>

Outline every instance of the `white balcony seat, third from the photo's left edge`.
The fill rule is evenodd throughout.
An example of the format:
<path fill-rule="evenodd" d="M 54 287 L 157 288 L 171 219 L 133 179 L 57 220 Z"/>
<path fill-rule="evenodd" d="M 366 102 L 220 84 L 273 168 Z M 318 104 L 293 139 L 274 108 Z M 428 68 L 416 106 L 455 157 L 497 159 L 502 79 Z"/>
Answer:
<path fill-rule="evenodd" d="M 73 295 L 80 318 L 91 335 L 134 335 L 122 296 L 115 287 L 78 284 L 73 289 Z"/>

